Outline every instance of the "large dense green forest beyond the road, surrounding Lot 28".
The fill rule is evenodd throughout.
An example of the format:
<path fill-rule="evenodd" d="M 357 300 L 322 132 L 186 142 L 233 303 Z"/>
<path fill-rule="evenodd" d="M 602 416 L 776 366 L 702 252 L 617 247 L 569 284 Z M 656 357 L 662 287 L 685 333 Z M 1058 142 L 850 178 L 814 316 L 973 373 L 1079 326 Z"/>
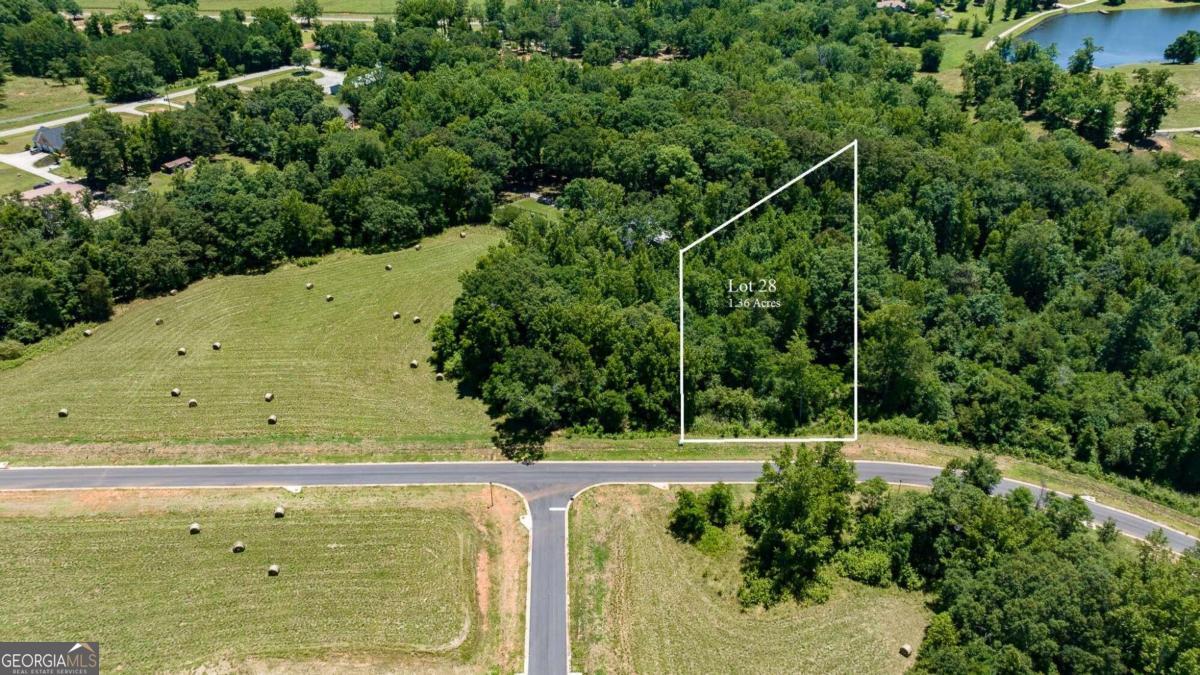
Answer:
<path fill-rule="evenodd" d="M 1117 126 L 1140 143 L 1158 125 L 1177 96 L 1164 76 L 1126 86 L 1086 46 L 1063 70 L 1003 42 L 968 56 L 952 95 L 911 49 L 937 19 L 865 0 L 482 13 L 404 0 L 390 20 L 319 26 L 361 129 L 302 82 L 74 127 L 71 154 L 124 211 L 4 207 L 0 338 L 203 275 L 395 247 L 547 186 L 559 217 L 497 211 L 508 243 L 463 280 L 434 360 L 514 455 L 560 429 L 668 431 L 679 246 L 858 139 L 864 419 L 1200 488 L 1200 165 L 1110 147 Z M 164 196 L 137 189 L 164 157 L 216 153 L 259 168 L 202 163 Z M 784 269 L 791 313 L 685 298 L 706 317 L 689 331 L 690 424 L 845 425 L 848 166 L 827 168 L 746 220 L 736 259 L 712 261 Z"/>

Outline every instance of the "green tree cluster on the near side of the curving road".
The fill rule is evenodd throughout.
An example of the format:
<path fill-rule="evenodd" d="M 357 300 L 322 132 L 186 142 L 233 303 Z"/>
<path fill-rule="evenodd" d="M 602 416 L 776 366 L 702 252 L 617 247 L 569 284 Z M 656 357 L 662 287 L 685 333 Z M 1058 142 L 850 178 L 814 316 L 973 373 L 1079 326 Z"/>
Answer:
<path fill-rule="evenodd" d="M 1078 496 L 992 495 L 989 458 L 958 461 L 930 491 L 856 486 L 836 446 L 784 450 L 742 508 L 722 484 L 680 490 L 668 528 L 719 549 L 745 534 L 744 605 L 824 602 L 830 581 L 930 595 L 917 673 L 1195 673 L 1200 555 L 1162 532 L 1130 544 Z M 738 539 L 743 540 L 743 539 Z"/>

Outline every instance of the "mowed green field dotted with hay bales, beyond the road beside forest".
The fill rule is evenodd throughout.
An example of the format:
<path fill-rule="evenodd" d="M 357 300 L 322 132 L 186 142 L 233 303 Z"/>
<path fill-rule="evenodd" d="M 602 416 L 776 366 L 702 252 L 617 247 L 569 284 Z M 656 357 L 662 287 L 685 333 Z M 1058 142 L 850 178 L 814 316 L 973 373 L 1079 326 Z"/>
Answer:
<path fill-rule="evenodd" d="M 31 350 L 43 353 L 0 370 L 0 442 L 484 442 L 482 405 L 460 398 L 450 381 L 436 382 L 427 359 L 434 319 L 457 297 L 460 274 L 500 237 L 488 227 L 466 238 L 455 229 L 420 251 L 346 251 L 310 267 L 203 280 L 122 307 L 91 338 L 70 328 L 53 347 Z M 217 341 L 221 351 L 211 348 Z M 176 356 L 179 347 L 187 356 Z M 272 402 L 263 400 L 268 392 Z M 60 408 L 70 417 L 59 418 Z M 277 425 L 268 425 L 271 414 Z"/>

